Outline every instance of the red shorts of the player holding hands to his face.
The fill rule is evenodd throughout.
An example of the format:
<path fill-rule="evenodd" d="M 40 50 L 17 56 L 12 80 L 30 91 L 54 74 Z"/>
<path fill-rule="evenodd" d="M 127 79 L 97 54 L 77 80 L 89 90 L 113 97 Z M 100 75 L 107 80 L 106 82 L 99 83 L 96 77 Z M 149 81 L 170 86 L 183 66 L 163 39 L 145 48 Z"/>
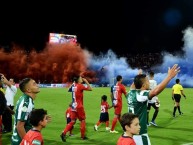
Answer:
<path fill-rule="evenodd" d="M 77 118 L 80 121 L 86 119 L 86 114 L 85 114 L 85 111 L 84 111 L 83 107 L 82 108 L 77 108 L 76 111 L 71 112 L 71 119 L 76 120 Z"/>

